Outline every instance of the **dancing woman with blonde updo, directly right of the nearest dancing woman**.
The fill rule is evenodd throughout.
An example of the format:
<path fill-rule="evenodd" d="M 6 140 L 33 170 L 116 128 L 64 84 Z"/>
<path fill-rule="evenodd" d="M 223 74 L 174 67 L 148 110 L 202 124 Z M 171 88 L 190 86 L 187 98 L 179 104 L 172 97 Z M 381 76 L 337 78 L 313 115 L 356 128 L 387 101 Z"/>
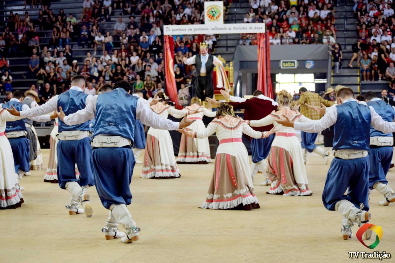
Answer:
<path fill-rule="evenodd" d="M 295 135 L 295 130 L 276 122 L 282 115 L 288 116 L 295 122 L 309 122 L 311 120 L 290 109 L 292 95 L 286 90 L 278 92 L 277 101 L 278 111 L 273 111 L 260 120 L 247 121 L 252 127 L 273 124 L 278 129 L 268 158 L 269 166 L 266 172 L 271 180 L 271 187 L 267 193 L 295 196 L 312 195 L 308 189 L 302 147 Z"/>

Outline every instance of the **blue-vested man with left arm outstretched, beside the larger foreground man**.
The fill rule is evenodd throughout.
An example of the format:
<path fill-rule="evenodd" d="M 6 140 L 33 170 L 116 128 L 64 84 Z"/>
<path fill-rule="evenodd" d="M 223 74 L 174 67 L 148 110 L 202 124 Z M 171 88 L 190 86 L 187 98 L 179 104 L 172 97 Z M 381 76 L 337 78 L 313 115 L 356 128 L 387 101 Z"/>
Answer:
<path fill-rule="evenodd" d="M 19 112 L 13 107 L 7 109 L 12 115 L 32 118 L 57 111 L 59 107 L 66 114 L 75 113 L 84 109 L 91 95 L 85 94 L 85 78 L 81 75 L 74 76 L 70 83 L 70 90 L 51 98 L 45 104 L 32 109 Z M 92 216 L 92 206 L 89 203 L 89 195 L 86 193 L 88 186 L 94 185 L 92 171 L 92 147 L 90 146 L 90 120 L 84 123 L 68 126 L 59 120 L 58 153 L 58 181 L 62 189 L 71 193 L 71 201 L 66 205 L 69 214 L 86 214 Z M 75 177 L 75 164 L 80 172 L 79 178 Z M 83 209 L 79 207 L 82 205 Z"/>

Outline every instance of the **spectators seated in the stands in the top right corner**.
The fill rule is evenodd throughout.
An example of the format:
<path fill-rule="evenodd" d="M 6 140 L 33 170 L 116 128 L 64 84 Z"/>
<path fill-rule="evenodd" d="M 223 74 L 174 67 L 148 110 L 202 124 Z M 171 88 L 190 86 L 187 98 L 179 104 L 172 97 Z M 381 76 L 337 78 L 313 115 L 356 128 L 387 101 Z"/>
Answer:
<path fill-rule="evenodd" d="M 355 0 L 357 42 L 349 66 L 359 66 L 364 81 L 395 80 L 395 16 L 390 0 Z"/>

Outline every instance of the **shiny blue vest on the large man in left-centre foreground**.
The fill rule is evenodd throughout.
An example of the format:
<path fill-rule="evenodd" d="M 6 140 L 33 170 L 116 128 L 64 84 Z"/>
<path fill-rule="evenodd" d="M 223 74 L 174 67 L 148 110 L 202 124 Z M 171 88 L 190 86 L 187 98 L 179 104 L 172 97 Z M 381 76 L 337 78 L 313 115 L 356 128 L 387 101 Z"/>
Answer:
<path fill-rule="evenodd" d="M 96 102 L 93 137 L 119 135 L 133 143 L 137 101 L 138 98 L 122 88 L 100 94 Z"/>

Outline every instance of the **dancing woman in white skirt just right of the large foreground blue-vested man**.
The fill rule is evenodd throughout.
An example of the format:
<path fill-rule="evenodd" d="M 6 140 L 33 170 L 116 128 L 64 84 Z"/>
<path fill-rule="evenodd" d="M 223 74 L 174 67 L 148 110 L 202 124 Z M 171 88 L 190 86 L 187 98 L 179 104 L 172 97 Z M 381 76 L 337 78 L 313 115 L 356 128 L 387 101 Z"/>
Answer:
<path fill-rule="evenodd" d="M 175 118 L 181 118 L 188 114 L 187 111 L 180 111 L 167 105 L 167 97 L 163 92 L 159 92 L 157 97 L 160 98 L 159 102 L 150 108 L 162 118 L 167 119 L 169 114 Z M 194 114 L 196 112 L 190 113 Z M 140 177 L 170 179 L 180 177 L 179 173 L 169 131 L 150 127 L 147 132 L 143 171 Z"/>

